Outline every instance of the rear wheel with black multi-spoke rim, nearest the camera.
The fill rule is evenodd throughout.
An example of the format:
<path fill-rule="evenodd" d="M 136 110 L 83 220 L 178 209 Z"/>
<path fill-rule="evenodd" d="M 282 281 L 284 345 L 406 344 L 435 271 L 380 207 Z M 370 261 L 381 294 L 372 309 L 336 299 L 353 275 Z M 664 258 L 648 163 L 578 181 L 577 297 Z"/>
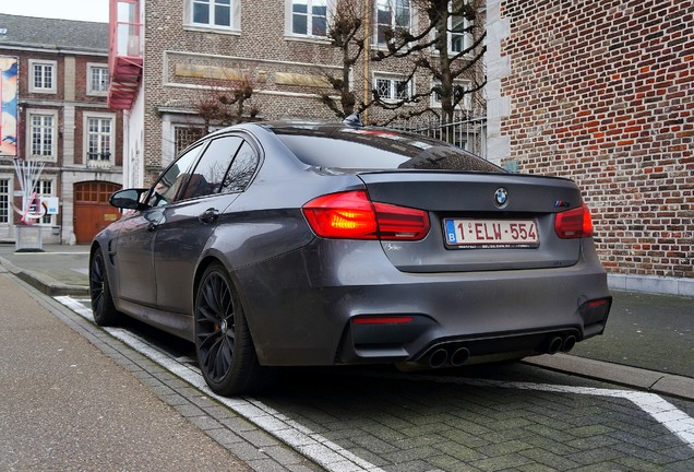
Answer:
<path fill-rule="evenodd" d="M 205 381 L 217 394 L 258 390 L 267 369 L 261 367 L 246 316 L 227 270 L 210 266 L 195 292 L 195 354 Z"/>

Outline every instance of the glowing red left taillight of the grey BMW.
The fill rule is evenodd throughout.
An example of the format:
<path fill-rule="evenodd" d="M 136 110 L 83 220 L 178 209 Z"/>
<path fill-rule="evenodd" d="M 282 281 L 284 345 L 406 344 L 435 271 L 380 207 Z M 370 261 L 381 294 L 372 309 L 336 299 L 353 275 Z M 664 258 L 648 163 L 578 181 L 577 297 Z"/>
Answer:
<path fill-rule="evenodd" d="M 313 232 L 325 238 L 419 240 L 429 233 L 427 212 L 374 203 L 366 191 L 319 197 L 302 210 Z"/>

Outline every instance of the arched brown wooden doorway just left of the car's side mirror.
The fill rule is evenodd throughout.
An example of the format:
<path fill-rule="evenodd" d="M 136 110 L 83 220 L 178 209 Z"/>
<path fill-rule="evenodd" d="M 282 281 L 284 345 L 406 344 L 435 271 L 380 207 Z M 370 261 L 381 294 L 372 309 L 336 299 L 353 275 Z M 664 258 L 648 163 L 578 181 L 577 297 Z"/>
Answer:
<path fill-rule="evenodd" d="M 108 198 L 121 186 L 106 181 L 74 185 L 74 236 L 77 244 L 89 244 L 94 236 L 120 217 Z"/>

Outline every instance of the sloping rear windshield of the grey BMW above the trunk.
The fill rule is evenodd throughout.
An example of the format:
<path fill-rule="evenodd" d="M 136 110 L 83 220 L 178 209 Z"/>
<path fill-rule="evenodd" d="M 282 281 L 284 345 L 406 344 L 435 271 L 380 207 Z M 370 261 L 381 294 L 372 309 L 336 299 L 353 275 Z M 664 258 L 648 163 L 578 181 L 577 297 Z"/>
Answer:
<path fill-rule="evenodd" d="M 279 126 L 272 130 L 301 162 L 316 167 L 504 172 L 442 141 L 386 129 L 307 125 Z"/>

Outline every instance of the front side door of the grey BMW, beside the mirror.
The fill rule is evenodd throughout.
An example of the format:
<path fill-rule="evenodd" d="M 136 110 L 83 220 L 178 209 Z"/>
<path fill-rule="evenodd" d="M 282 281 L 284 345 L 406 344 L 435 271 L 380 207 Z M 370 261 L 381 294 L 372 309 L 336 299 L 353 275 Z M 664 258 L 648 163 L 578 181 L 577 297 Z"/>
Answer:
<path fill-rule="evenodd" d="M 165 210 L 175 201 L 184 184 L 188 169 L 200 154 L 201 146 L 183 153 L 159 176 L 147 193 L 148 209 L 128 217 L 118 236 L 116 257 L 120 297 L 137 305 L 156 305 L 154 274 L 155 229 L 165 217 Z"/>

